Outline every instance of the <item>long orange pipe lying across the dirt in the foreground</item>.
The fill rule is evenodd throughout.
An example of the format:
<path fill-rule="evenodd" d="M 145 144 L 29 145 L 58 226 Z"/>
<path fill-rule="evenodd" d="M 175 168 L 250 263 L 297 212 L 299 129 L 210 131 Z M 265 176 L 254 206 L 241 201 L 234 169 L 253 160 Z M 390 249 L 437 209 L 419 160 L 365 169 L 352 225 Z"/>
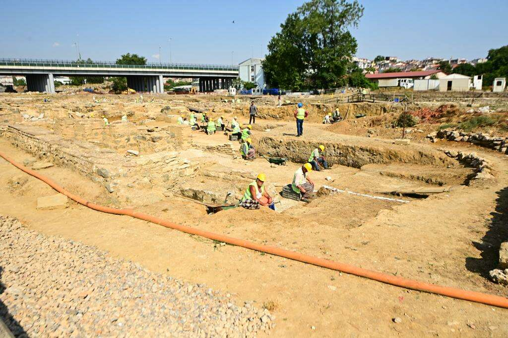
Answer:
<path fill-rule="evenodd" d="M 17 168 L 26 172 L 27 174 L 30 174 L 34 177 L 39 178 L 43 182 L 46 182 L 57 192 L 59 192 L 63 195 L 66 195 L 67 197 L 76 201 L 77 203 L 82 204 L 82 205 L 84 205 L 90 209 L 93 209 L 93 210 L 107 212 L 107 213 L 116 214 L 116 215 L 127 215 L 127 216 L 131 216 L 131 217 L 139 218 L 139 219 L 146 220 L 146 221 L 149 221 L 149 222 L 152 222 L 155 224 L 160 224 L 161 226 L 164 226 L 167 228 L 179 230 L 179 231 L 187 233 L 187 234 L 202 236 L 202 237 L 206 237 L 208 239 L 216 240 L 219 242 L 225 242 L 225 243 L 229 243 L 232 245 L 241 246 L 241 247 L 244 247 L 247 249 L 266 252 L 266 253 L 270 253 L 272 255 L 277 255 L 277 256 L 288 258 L 288 259 L 293 259 L 293 260 L 298 260 L 298 261 L 301 261 L 301 262 L 304 262 L 307 264 L 312 264 L 312 265 L 315 265 L 318 267 L 328 268 L 331 270 L 337 270 L 337 271 L 341 271 L 344 273 L 372 279 L 372 280 L 375 280 L 378 282 L 404 287 L 407 289 L 413 289 L 413 290 L 418 290 L 418 291 L 425 291 L 425 292 L 429 292 L 429 293 L 440 294 L 443 296 L 464 299 L 466 301 L 483 303 L 483 304 L 492 305 L 492 306 L 496 306 L 496 307 L 500 307 L 500 308 L 508 308 L 508 298 L 496 296 L 493 294 L 461 290 L 458 288 L 439 286 L 439 285 L 435 285 L 435 284 L 420 282 L 417 280 L 411 280 L 411 279 L 391 276 L 391 275 L 387 275 L 387 274 L 380 273 L 377 271 L 358 268 L 358 267 L 352 266 L 350 264 L 339 263 L 339 262 L 336 262 L 333 260 L 314 257 L 314 256 L 306 255 L 306 254 L 295 252 L 295 251 L 277 248 L 274 246 L 257 244 L 254 242 L 249 242 L 249 241 L 245 241 L 245 240 L 234 238 L 234 237 L 229 237 L 229 236 L 225 236 L 225 235 L 221 235 L 221 234 L 215 234 L 215 233 L 212 233 L 209 231 L 204 231 L 204 230 L 199 230 L 199 229 L 194 229 L 194 228 L 182 226 L 180 224 L 176 224 L 176 223 L 164 220 L 162 218 L 151 216 L 151 215 L 148 215 L 148 214 L 145 214 L 142 212 L 136 212 L 136 211 L 133 211 L 130 209 L 115 209 L 115 208 L 105 207 L 103 205 L 90 203 L 87 200 L 85 200 L 77 195 L 74 195 L 74 194 L 68 192 L 67 190 L 63 189 L 63 187 L 58 185 L 52 179 L 14 162 L 9 157 L 7 157 L 4 153 L 0 152 L 0 156 L 3 157 L 6 161 L 8 161 L 11 164 L 13 164 L 14 166 L 16 166 Z"/>

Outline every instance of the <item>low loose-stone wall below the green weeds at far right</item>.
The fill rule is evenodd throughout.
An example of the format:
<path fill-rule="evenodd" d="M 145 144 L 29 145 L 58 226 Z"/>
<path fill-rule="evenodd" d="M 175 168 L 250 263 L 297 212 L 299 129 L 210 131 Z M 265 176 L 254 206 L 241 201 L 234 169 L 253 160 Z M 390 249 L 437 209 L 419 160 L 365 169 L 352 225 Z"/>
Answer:
<path fill-rule="evenodd" d="M 443 129 L 430 133 L 427 138 L 432 142 L 435 142 L 438 138 L 456 142 L 469 142 L 508 154 L 508 136 L 490 136 L 490 134 L 482 132 L 466 133 L 453 129 Z"/>

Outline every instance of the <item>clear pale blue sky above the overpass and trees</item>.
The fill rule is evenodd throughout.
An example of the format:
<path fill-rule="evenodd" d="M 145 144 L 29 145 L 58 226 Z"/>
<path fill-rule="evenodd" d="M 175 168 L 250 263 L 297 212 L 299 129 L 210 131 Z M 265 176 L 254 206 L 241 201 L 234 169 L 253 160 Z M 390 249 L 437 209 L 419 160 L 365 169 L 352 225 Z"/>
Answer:
<path fill-rule="evenodd" d="M 263 56 L 303 1 L 2 1 L 0 57 L 238 63 Z M 508 1 L 360 0 L 357 56 L 485 57 L 508 44 Z M 235 21 L 234 23 L 232 21 Z M 79 34 L 79 37 L 78 37 Z"/>

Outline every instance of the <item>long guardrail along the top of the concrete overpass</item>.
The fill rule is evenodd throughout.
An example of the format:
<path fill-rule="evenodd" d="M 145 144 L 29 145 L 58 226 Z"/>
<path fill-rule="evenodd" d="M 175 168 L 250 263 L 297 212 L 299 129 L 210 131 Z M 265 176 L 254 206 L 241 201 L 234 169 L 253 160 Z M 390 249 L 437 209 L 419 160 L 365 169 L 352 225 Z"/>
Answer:
<path fill-rule="evenodd" d="M 112 61 L 93 61 L 93 63 L 72 60 L 11 59 L 0 58 L 0 65 L 5 66 L 40 66 L 40 67 L 84 67 L 84 68 L 135 68 L 135 69 L 188 69 L 188 70 L 226 70 L 238 71 L 235 65 L 194 64 L 194 63 L 147 63 L 145 65 L 116 64 Z"/>

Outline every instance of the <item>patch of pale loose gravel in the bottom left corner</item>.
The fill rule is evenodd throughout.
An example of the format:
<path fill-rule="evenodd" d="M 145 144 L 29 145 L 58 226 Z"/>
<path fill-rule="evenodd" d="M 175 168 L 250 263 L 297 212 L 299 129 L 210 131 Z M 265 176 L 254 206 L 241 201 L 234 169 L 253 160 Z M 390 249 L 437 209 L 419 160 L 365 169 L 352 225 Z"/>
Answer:
<path fill-rule="evenodd" d="M 0 316 L 17 336 L 256 336 L 275 319 L 0 215 Z"/>

